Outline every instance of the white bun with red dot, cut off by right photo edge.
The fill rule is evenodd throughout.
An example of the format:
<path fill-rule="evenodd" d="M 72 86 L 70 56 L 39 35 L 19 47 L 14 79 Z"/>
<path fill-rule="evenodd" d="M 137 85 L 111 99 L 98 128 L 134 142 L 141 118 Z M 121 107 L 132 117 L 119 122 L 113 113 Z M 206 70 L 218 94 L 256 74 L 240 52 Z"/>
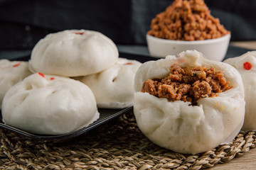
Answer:
<path fill-rule="evenodd" d="M 256 51 L 246 52 L 224 62 L 238 69 L 245 87 L 245 122 L 242 130 L 256 130 Z M 245 69 L 245 62 L 250 63 L 252 68 Z"/>

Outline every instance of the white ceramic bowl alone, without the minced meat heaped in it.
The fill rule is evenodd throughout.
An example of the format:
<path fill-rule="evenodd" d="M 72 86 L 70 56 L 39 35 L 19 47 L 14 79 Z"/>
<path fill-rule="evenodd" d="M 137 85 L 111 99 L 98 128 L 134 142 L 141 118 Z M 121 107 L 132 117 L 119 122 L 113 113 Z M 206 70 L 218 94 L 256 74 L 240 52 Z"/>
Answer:
<path fill-rule="evenodd" d="M 198 50 L 209 60 L 220 62 L 223 61 L 228 50 L 230 34 L 221 38 L 195 41 L 166 40 L 146 34 L 146 42 L 152 57 L 166 57 L 186 50 Z"/>

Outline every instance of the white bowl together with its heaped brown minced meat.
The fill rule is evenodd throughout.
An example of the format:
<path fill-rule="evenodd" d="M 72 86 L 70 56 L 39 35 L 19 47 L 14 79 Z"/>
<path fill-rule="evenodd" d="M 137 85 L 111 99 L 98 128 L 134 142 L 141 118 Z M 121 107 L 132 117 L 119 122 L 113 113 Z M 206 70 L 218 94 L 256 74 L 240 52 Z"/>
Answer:
<path fill-rule="evenodd" d="M 222 61 L 228 50 L 230 31 L 210 15 L 203 0 L 175 0 L 152 19 L 146 42 L 152 57 L 198 50 L 209 60 Z"/>

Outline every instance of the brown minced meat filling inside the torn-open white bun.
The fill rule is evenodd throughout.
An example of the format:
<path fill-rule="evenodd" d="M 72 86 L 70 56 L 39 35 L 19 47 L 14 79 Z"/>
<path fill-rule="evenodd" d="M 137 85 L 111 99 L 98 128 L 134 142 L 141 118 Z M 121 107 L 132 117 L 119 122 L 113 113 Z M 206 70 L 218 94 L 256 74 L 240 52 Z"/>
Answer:
<path fill-rule="evenodd" d="M 169 70 L 168 77 L 146 80 L 142 92 L 169 101 L 188 101 L 197 105 L 200 98 L 218 96 L 218 93 L 233 88 L 223 73 L 215 72 L 213 67 L 182 68 L 172 64 Z"/>

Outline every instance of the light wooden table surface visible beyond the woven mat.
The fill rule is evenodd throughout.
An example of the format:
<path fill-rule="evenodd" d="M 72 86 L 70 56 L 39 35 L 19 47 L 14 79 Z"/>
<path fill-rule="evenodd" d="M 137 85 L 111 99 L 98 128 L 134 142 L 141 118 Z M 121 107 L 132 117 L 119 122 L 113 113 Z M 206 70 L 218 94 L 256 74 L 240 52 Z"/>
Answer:
<path fill-rule="evenodd" d="M 248 42 L 230 42 L 230 45 L 235 45 L 238 47 L 245 47 L 250 50 L 256 50 L 256 41 Z M 256 169 L 256 148 L 250 149 L 250 151 L 245 152 L 241 157 L 234 158 L 225 164 L 216 164 L 213 168 L 209 170 L 255 170 Z"/>

